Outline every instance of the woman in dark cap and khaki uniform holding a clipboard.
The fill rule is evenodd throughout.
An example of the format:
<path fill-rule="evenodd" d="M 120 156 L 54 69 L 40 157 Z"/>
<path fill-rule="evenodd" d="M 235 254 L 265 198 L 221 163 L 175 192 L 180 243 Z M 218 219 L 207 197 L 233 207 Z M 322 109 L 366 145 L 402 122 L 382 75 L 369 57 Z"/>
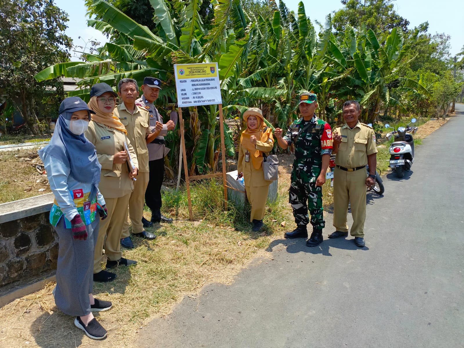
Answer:
<path fill-rule="evenodd" d="M 138 162 L 126 136 L 127 130 L 119 118 L 113 115 L 116 97 L 116 92 L 109 84 L 94 84 L 88 103 L 95 115 L 92 116 L 85 136 L 97 150 L 97 158 L 102 166 L 99 187 L 108 207 L 108 219 L 102 222 L 95 245 L 93 280 L 96 282 L 110 282 L 116 277 L 115 273 L 102 270 L 103 247 L 107 257 L 106 269 L 137 263 L 123 258 L 121 252 L 122 226 L 127 219 L 129 197 L 134 190 L 133 179 L 138 173 Z M 124 144 L 127 145 L 130 158 Z M 131 162 L 133 171 L 129 171 L 128 162 Z"/>

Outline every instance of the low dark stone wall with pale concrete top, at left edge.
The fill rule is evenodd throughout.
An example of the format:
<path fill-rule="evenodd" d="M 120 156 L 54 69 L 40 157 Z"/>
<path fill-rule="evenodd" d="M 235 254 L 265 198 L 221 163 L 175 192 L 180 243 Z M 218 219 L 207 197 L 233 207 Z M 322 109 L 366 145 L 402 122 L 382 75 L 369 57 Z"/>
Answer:
<path fill-rule="evenodd" d="M 0 292 L 56 269 L 58 235 L 48 222 L 50 200 L 44 195 L 0 205 Z M 9 209 L 13 204 L 17 209 Z"/>

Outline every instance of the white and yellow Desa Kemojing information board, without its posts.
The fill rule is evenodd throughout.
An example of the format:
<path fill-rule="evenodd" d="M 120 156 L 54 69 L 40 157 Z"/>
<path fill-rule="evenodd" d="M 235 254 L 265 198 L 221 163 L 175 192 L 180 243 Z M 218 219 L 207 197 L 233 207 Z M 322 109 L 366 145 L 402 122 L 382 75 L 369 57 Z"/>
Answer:
<path fill-rule="evenodd" d="M 218 63 L 174 64 L 179 107 L 222 104 Z"/>

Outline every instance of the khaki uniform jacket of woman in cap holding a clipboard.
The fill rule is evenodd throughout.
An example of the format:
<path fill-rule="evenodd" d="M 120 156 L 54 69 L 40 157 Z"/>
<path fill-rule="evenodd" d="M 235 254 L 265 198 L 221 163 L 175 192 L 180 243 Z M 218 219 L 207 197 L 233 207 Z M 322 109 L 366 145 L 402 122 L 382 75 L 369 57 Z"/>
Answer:
<path fill-rule="evenodd" d="M 102 165 L 98 187 L 103 197 L 119 198 L 131 193 L 134 190 L 134 183 L 129 178 L 127 163 L 113 163 L 114 155 L 123 150 L 126 142 L 134 166 L 139 167 L 137 155 L 126 135 L 120 130 L 90 121 L 85 137 L 95 145 L 98 161 Z"/>

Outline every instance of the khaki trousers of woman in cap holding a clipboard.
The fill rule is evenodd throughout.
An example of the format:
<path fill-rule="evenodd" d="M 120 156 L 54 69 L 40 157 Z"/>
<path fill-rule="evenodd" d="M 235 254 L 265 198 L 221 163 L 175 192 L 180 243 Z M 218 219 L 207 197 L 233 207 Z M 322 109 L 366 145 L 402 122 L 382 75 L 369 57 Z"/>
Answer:
<path fill-rule="evenodd" d="M 122 257 L 120 239 L 124 220 L 127 221 L 129 197 L 130 193 L 119 198 L 105 198 L 108 217 L 100 222 L 100 231 L 98 232 L 93 258 L 94 273 L 102 271 L 100 263 L 102 262 L 103 246 L 108 260 L 116 261 Z"/>

